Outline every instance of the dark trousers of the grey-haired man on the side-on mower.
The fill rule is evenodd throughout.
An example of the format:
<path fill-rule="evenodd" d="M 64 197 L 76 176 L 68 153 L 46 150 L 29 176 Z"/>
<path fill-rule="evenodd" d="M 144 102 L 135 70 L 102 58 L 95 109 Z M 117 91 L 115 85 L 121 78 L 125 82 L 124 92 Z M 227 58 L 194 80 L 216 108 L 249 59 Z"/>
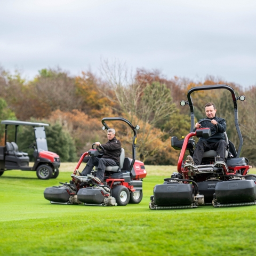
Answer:
<path fill-rule="evenodd" d="M 96 177 L 103 182 L 106 166 L 117 166 L 117 165 L 118 164 L 113 159 L 91 157 L 87 162 L 84 170 L 82 171 L 82 174 L 86 176 L 87 174 L 91 173 L 93 166 L 98 166 Z"/>

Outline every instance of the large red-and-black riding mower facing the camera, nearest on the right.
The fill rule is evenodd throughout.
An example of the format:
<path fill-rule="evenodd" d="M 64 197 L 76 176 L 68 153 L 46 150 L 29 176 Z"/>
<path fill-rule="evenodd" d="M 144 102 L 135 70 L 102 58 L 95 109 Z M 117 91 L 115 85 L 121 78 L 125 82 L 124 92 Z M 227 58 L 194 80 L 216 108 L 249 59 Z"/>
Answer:
<path fill-rule="evenodd" d="M 216 151 L 205 151 L 200 165 L 185 163 L 183 158 L 186 149 L 190 156 L 194 154 L 195 141 L 193 137 L 209 138 L 218 132 L 218 126 L 211 124 L 194 131 L 195 118 L 191 93 L 202 90 L 226 89 L 230 91 L 234 103 L 235 127 L 239 138 L 236 150 L 226 132 L 226 142 L 229 145 L 225 161 L 220 161 Z M 183 140 L 171 138 L 174 149 L 181 150 L 177 171 L 171 178 L 164 179 L 162 185 L 154 187 L 154 196 L 151 196 L 150 209 L 182 209 L 194 208 L 198 205 L 212 204 L 214 207 L 242 206 L 256 204 L 256 175 L 248 174 L 250 165 L 245 157 L 240 157 L 243 137 L 238 124 L 237 100 L 245 100 L 245 96 L 236 97 L 232 87 L 228 85 L 211 85 L 191 88 L 188 91 L 188 101 L 181 101 L 181 106 L 189 105 L 191 126 L 190 133 Z M 204 119 L 204 121 L 207 121 Z M 229 124 L 231 125 L 231 124 Z"/>

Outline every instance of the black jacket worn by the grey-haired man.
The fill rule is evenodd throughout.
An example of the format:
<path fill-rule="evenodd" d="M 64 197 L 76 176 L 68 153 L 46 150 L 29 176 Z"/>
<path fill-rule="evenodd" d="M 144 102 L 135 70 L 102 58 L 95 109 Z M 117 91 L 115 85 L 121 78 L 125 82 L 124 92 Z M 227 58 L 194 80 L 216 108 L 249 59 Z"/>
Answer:
<path fill-rule="evenodd" d="M 121 142 L 114 137 L 109 140 L 106 144 L 101 144 L 104 148 L 105 153 L 102 158 L 113 159 L 119 165 L 119 157 L 121 155 Z"/>

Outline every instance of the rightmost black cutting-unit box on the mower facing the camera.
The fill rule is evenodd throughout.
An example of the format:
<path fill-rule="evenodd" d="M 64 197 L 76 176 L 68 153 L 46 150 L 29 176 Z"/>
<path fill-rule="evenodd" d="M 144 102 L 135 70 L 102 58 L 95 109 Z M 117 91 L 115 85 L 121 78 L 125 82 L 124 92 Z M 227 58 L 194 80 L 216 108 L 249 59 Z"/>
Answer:
<path fill-rule="evenodd" d="M 254 180 L 235 180 L 218 182 L 215 186 L 218 203 L 253 202 L 256 199 Z"/>

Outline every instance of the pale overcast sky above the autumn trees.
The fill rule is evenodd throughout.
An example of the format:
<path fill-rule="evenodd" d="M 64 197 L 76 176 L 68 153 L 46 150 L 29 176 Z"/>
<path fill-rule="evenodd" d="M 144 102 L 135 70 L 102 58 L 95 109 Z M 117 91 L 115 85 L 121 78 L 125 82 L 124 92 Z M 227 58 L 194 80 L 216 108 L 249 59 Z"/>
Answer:
<path fill-rule="evenodd" d="M 0 65 L 31 78 L 101 58 L 173 76 L 256 85 L 255 0 L 1 0 Z"/>

